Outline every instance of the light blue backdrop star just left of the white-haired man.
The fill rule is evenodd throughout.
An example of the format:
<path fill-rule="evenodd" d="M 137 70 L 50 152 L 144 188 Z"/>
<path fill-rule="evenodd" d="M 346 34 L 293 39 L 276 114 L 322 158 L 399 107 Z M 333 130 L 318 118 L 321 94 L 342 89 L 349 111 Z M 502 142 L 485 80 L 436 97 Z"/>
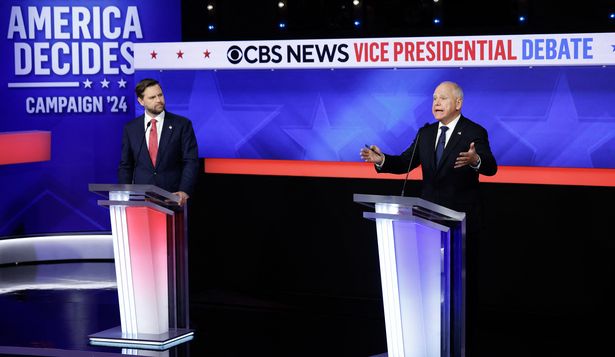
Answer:
<path fill-rule="evenodd" d="M 304 160 L 342 161 L 340 151 L 362 132 L 358 127 L 332 125 L 320 94 L 312 125 L 305 128 L 284 128 L 284 131 L 304 150 Z"/>

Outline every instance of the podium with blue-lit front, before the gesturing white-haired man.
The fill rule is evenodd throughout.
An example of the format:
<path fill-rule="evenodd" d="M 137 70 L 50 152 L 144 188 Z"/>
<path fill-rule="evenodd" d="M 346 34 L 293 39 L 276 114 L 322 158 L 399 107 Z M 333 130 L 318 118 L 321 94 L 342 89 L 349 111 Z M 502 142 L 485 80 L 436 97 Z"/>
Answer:
<path fill-rule="evenodd" d="M 465 213 L 355 194 L 376 222 L 388 357 L 465 356 Z"/>

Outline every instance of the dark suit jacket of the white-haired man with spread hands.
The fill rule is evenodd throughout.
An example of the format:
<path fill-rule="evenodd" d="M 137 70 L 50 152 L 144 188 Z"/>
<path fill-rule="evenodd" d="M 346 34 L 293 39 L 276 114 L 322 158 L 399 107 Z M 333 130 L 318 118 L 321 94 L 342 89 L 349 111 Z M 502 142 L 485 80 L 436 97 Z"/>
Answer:
<path fill-rule="evenodd" d="M 436 167 L 435 146 L 438 122 L 419 130 L 414 142 L 401 155 L 385 155 L 385 161 L 379 172 L 406 173 L 421 165 L 423 183 L 421 198 L 451 208 L 470 213 L 480 204 L 478 175 L 495 175 L 497 163 L 491 148 L 487 131 L 463 115 L 459 118 L 454 132 L 444 149 L 442 160 Z M 417 144 L 418 142 L 418 144 Z M 455 169 L 455 159 L 460 152 L 468 151 L 474 142 L 477 154 L 481 158 L 480 169 L 470 166 Z M 416 146 L 412 164 L 410 158 Z"/>

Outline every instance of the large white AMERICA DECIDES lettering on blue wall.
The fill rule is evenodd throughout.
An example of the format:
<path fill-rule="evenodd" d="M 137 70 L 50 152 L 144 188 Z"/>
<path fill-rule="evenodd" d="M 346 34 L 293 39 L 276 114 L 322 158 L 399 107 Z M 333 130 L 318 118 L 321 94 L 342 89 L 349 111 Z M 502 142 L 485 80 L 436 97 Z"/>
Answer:
<path fill-rule="evenodd" d="M 131 40 L 142 38 L 136 6 L 12 6 L 7 31 L 18 76 L 130 75 Z"/>

